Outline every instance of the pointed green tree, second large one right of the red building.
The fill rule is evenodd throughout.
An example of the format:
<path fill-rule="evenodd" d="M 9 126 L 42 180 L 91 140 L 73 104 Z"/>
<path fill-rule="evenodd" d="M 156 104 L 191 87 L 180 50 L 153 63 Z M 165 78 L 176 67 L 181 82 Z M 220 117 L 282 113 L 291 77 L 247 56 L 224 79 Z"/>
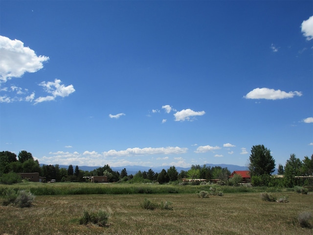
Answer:
<path fill-rule="evenodd" d="M 295 154 L 291 154 L 285 165 L 284 181 L 287 187 L 294 187 L 298 184 L 295 176 L 301 175 L 302 162 L 296 158 Z"/>

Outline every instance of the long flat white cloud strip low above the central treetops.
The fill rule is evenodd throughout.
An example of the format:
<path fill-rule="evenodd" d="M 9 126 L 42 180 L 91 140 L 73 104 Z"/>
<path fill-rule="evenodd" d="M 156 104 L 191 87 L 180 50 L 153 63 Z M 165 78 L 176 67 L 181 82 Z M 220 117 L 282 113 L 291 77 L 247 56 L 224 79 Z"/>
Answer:
<path fill-rule="evenodd" d="M 188 148 L 180 147 L 159 147 L 159 148 L 128 148 L 126 150 L 109 150 L 103 152 L 105 157 L 107 156 L 136 156 L 136 155 L 152 155 L 152 154 L 183 154 L 188 151 Z"/>

